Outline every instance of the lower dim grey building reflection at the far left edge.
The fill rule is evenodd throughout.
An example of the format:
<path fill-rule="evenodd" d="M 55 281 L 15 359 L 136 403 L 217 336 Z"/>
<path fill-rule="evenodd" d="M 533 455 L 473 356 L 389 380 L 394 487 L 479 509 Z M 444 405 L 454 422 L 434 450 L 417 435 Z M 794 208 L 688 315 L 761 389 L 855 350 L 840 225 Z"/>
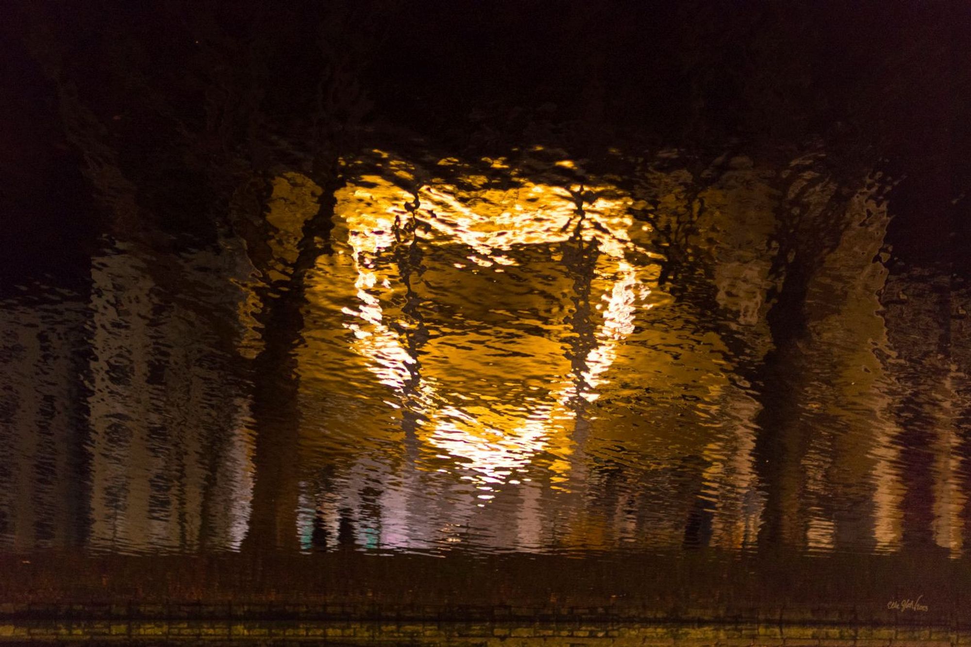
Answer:
<path fill-rule="evenodd" d="M 0 545 L 84 538 L 84 318 L 72 296 L 0 303 Z"/>

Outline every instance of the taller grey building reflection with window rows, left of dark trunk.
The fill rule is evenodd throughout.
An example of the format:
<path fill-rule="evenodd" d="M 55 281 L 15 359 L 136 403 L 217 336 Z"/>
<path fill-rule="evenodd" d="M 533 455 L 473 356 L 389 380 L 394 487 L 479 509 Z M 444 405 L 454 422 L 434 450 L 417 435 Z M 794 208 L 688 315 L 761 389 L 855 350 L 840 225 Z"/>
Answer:
<path fill-rule="evenodd" d="M 251 487 L 247 405 L 205 319 L 225 299 L 207 268 L 219 280 L 227 269 L 205 251 L 159 261 L 124 244 L 92 259 L 90 543 L 235 548 Z M 167 272 L 180 293 L 159 284 Z"/>

